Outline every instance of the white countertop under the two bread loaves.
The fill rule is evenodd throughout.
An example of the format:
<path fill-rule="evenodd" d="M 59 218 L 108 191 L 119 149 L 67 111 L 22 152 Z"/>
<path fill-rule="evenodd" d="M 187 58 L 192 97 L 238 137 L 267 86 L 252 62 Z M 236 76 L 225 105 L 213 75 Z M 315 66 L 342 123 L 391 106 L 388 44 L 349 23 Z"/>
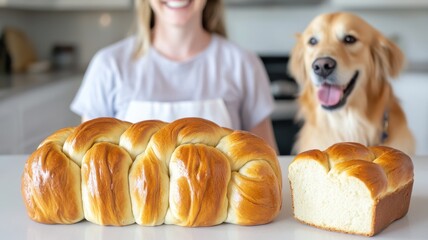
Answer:
<path fill-rule="evenodd" d="M 280 157 L 283 174 L 283 206 L 278 217 L 261 226 L 221 224 L 187 228 L 172 225 L 143 227 L 99 226 L 87 221 L 72 225 L 45 225 L 27 216 L 21 197 L 21 174 L 26 155 L 0 156 L 0 239 L 368 239 L 368 237 L 329 232 L 297 222 L 292 217 L 287 167 L 292 157 Z M 375 239 L 426 239 L 428 235 L 428 156 L 413 158 L 415 182 L 408 214 L 392 223 Z"/>

